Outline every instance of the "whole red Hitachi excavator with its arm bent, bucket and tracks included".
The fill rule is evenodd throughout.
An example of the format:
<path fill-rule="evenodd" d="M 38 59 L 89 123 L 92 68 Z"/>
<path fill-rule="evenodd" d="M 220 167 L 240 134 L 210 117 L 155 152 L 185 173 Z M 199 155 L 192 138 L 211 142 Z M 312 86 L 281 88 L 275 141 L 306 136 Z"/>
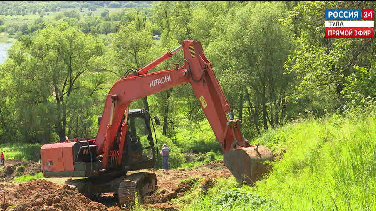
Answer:
<path fill-rule="evenodd" d="M 147 73 L 180 49 L 184 51 L 184 59 L 171 69 Z M 182 41 L 179 47 L 143 68 L 127 71 L 112 86 L 102 116 L 98 117 L 96 137 L 88 138 L 85 130 L 83 138 L 76 135 L 73 140 L 67 138 L 63 143 L 43 145 L 44 177 L 84 177 L 70 180 L 68 184 L 86 196 L 117 193 L 120 205 L 134 202 L 135 192 L 142 200 L 158 187 L 155 173 L 126 173 L 154 167 L 158 152 L 150 128 L 151 122 L 154 130 L 151 115 L 143 109 L 130 110 L 129 104 L 184 83 L 191 84 L 201 104 L 224 152 L 224 164 L 238 182 L 254 182 L 266 172 L 263 162 L 272 158 L 271 151 L 265 146 L 250 145 L 243 139 L 241 120 L 233 119 L 231 107 L 201 43 L 190 40 Z M 154 121 L 159 125 L 158 117 L 155 116 Z M 156 136 L 155 143 L 158 149 Z"/>

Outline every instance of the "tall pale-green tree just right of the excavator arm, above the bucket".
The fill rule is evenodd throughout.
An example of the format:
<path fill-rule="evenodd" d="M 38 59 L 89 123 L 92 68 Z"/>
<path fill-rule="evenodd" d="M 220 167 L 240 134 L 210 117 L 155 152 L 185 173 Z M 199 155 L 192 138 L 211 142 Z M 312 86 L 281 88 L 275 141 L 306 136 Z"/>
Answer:
<path fill-rule="evenodd" d="M 284 62 L 292 45 L 291 27 L 276 22 L 280 17 L 284 11 L 279 3 L 247 2 L 219 17 L 210 32 L 217 39 L 209 43 L 208 57 L 213 58 L 227 100 L 240 118 L 246 105 L 249 123 L 258 133 L 259 112 L 265 129 L 279 125 L 285 115 Z M 233 87 L 242 88 L 234 93 Z"/>

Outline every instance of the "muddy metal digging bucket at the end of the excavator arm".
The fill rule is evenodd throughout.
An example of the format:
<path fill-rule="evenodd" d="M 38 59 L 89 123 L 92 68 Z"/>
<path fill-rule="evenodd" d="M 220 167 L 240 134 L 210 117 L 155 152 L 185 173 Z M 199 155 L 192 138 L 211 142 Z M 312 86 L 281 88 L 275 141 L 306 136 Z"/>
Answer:
<path fill-rule="evenodd" d="M 236 148 L 223 155 L 226 167 L 239 183 L 253 185 L 254 182 L 271 170 L 264 161 L 271 160 L 273 154 L 266 146 Z"/>

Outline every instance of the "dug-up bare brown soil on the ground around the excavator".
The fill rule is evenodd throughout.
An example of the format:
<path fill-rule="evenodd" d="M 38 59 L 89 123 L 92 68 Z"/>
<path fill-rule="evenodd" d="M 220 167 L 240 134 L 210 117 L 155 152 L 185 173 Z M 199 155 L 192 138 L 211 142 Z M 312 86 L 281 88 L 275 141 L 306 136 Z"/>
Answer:
<path fill-rule="evenodd" d="M 35 174 L 41 171 L 40 164 L 31 161 L 8 160 L 6 165 L 0 172 L 0 176 L 3 176 L 0 179 L 5 179 L 5 181 L 10 181 L 14 178 L 17 173 L 15 170 L 17 166 L 25 166 L 24 172 L 21 172 L 22 174 Z M 129 172 L 128 175 L 141 171 L 154 172 L 158 180 L 158 191 L 151 196 L 146 196 L 141 206 L 168 211 L 179 209 L 171 200 L 183 196 L 192 190 L 194 182 L 198 178 L 204 178 L 199 188 L 203 194 L 206 194 L 208 189 L 215 185 L 214 178 L 229 178 L 232 176 L 230 171 L 224 166 L 223 161 L 213 161 L 193 169 L 174 169 L 168 171 L 162 169 L 144 169 Z M 20 172 L 18 172 L 19 174 Z M 187 178 L 191 178 L 191 180 L 185 180 L 186 182 L 181 181 Z M 67 178 L 61 179 L 66 180 Z M 3 188 L 5 188 L 5 192 L 0 192 L 0 209 L 2 210 L 8 210 L 9 206 L 13 206 L 14 211 L 120 211 L 114 193 L 101 194 L 99 198 L 91 200 L 77 193 L 68 185 L 61 186 L 41 179 L 18 185 L 6 182 L 0 184 L 0 191 Z M 5 193 L 5 202 L 3 200 L 3 193 Z"/>

